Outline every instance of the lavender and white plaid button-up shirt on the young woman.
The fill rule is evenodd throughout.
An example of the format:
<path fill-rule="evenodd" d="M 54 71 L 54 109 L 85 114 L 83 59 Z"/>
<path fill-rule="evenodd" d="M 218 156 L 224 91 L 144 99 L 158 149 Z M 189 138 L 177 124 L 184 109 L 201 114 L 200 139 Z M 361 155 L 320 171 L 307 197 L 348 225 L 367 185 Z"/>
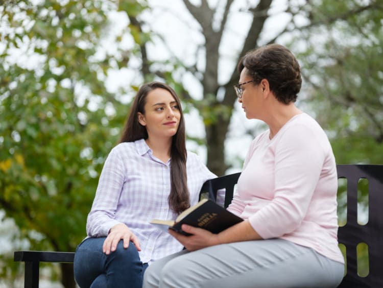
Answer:
<path fill-rule="evenodd" d="M 217 177 L 192 152 L 187 153 L 187 186 L 190 204 L 198 201 L 202 184 Z M 124 142 L 108 155 L 88 214 L 88 237 L 108 235 L 111 227 L 125 223 L 138 237 L 143 263 L 182 250 L 169 233 L 149 223 L 152 219 L 175 220 L 167 202 L 171 189 L 170 161 L 157 159 L 145 140 Z"/>

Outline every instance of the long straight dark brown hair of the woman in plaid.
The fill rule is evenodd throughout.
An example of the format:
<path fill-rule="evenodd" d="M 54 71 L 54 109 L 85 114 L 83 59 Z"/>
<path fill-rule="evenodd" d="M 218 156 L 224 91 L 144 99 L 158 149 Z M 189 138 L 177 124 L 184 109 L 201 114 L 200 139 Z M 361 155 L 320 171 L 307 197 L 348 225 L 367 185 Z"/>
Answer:
<path fill-rule="evenodd" d="M 144 107 L 147 101 L 147 96 L 150 91 L 158 88 L 165 89 L 172 94 L 180 111 L 180 123 L 178 130 L 172 137 L 172 147 L 170 153 L 171 191 L 169 197 L 167 198 L 171 209 L 176 213 L 180 213 L 190 206 L 190 199 L 186 176 L 185 121 L 183 118 L 181 102 L 176 92 L 170 86 L 161 82 L 143 84 L 134 98 L 119 142 L 133 142 L 139 139 L 148 139 L 148 132 L 145 126 L 142 126 L 138 122 L 138 112 L 145 114 Z"/>

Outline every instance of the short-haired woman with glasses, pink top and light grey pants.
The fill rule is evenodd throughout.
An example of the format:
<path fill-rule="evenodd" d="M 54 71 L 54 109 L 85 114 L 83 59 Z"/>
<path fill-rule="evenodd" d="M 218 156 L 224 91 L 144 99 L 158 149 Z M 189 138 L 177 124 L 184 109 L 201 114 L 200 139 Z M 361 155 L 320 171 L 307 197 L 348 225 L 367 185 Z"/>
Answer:
<path fill-rule="evenodd" d="M 337 287 L 336 163 L 322 128 L 294 105 L 298 61 L 271 44 L 247 53 L 238 71 L 246 117 L 269 126 L 252 142 L 228 207 L 245 221 L 219 234 L 169 231 L 187 250 L 149 267 L 143 287 Z"/>

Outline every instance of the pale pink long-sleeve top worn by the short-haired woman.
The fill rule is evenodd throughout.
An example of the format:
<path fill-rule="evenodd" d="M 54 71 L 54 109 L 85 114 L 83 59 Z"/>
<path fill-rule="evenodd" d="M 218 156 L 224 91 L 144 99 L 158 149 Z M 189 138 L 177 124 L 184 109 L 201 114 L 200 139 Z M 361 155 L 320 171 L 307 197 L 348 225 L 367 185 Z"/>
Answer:
<path fill-rule="evenodd" d="M 248 151 L 228 210 L 248 219 L 264 238 L 313 248 L 344 263 L 338 247 L 338 177 L 330 142 L 309 115 L 294 116 L 270 140 Z"/>

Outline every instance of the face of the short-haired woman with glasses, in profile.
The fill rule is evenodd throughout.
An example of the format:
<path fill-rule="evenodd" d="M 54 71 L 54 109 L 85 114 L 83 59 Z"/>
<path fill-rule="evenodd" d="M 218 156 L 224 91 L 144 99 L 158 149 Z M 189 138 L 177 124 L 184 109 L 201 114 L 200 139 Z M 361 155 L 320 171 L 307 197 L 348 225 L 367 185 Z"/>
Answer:
<path fill-rule="evenodd" d="M 251 80 L 252 78 L 248 74 L 248 69 L 245 67 L 241 72 L 240 81 L 238 83 L 245 83 Z M 238 99 L 238 102 L 242 104 L 246 117 L 248 119 L 259 119 L 259 111 L 262 109 L 261 85 L 250 82 L 241 85 L 241 88 L 243 90 L 242 98 Z"/>

